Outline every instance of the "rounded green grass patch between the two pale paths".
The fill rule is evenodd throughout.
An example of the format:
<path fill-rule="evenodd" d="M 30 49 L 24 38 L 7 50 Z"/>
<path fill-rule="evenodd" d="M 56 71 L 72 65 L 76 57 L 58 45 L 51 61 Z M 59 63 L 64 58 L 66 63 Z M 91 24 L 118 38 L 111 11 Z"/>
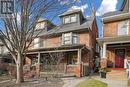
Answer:
<path fill-rule="evenodd" d="M 76 87 L 107 87 L 107 84 L 98 80 L 89 79 L 79 83 Z"/>

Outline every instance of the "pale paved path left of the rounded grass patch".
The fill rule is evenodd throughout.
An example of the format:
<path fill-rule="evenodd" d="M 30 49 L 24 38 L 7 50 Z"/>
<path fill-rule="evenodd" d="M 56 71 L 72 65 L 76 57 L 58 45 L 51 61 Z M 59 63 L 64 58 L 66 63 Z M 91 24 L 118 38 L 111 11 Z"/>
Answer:
<path fill-rule="evenodd" d="M 64 81 L 63 87 L 75 87 L 78 83 L 86 80 L 87 77 L 76 78 L 76 77 L 69 77 L 69 78 L 62 78 Z"/>

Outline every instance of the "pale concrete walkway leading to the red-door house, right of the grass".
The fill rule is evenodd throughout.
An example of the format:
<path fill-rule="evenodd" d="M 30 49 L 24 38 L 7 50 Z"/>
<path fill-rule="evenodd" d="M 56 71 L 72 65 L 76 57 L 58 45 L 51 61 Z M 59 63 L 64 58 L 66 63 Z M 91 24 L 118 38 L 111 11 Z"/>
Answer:
<path fill-rule="evenodd" d="M 100 78 L 99 76 L 93 76 L 93 78 L 107 83 L 108 87 L 128 87 L 127 80 L 110 80 L 110 79 Z"/>

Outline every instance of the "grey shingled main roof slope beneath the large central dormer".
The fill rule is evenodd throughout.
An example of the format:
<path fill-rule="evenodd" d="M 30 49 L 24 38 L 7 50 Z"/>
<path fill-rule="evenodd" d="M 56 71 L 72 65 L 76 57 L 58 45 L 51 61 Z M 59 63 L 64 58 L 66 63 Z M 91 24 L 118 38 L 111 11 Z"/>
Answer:
<path fill-rule="evenodd" d="M 79 30 L 84 30 L 88 29 L 89 27 L 92 26 L 94 17 L 88 17 L 82 24 L 67 24 L 67 25 L 59 25 L 49 31 L 42 31 L 39 36 L 44 36 L 44 35 L 52 35 L 52 34 L 58 34 L 58 33 L 65 33 L 65 32 L 70 32 L 70 31 L 79 31 Z"/>

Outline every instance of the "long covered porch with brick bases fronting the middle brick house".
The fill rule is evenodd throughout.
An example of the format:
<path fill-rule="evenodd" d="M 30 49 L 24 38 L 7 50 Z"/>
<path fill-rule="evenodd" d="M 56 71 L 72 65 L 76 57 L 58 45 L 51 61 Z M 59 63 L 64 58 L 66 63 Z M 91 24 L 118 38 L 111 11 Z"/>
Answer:
<path fill-rule="evenodd" d="M 34 49 L 27 54 L 26 60 L 28 59 L 29 64 L 36 66 L 37 75 L 53 72 L 80 77 L 85 73 L 83 65 L 89 66 L 89 56 L 88 48 L 77 45 Z"/>

